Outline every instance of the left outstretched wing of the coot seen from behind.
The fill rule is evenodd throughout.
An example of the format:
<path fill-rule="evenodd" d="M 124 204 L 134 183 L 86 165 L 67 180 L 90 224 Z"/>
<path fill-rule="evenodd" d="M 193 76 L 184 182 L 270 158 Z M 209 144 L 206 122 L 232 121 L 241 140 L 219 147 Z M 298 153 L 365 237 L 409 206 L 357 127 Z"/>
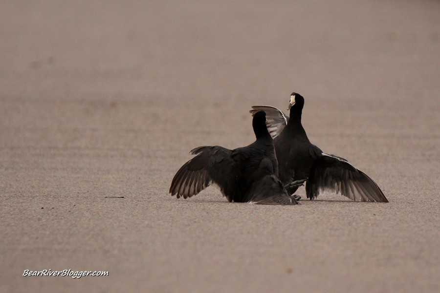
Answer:
<path fill-rule="evenodd" d="M 214 182 L 228 201 L 232 201 L 231 192 L 236 181 L 232 151 L 221 146 L 199 146 L 190 153 L 197 156 L 177 171 L 171 182 L 169 191 L 171 195 L 188 198 L 197 195 Z"/>

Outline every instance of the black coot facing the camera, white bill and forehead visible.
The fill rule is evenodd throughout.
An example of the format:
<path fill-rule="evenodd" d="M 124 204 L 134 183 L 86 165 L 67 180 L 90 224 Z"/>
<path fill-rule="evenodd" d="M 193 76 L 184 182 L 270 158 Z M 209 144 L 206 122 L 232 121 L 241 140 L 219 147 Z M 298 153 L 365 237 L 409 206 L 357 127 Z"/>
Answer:
<path fill-rule="evenodd" d="M 341 193 L 352 200 L 385 202 L 385 195 L 364 172 L 353 167 L 346 159 L 324 153 L 312 145 L 301 125 L 304 98 L 297 93 L 290 95 L 290 118 L 272 106 L 253 106 L 249 112 L 255 115 L 264 110 L 267 129 L 274 138 L 279 164 L 279 178 L 289 193 L 298 186 L 288 187 L 294 180 L 307 179 L 306 193 L 315 199 L 323 191 Z"/>

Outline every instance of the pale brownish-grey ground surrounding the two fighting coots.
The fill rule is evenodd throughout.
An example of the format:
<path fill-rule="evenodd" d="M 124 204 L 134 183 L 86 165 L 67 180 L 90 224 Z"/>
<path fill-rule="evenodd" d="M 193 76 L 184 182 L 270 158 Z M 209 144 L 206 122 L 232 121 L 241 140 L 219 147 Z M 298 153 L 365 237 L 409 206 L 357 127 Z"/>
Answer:
<path fill-rule="evenodd" d="M 0 292 L 440 291 L 439 1 L 70 2 L 0 2 Z M 389 204 L 167 193 L 292 91 Z"/>

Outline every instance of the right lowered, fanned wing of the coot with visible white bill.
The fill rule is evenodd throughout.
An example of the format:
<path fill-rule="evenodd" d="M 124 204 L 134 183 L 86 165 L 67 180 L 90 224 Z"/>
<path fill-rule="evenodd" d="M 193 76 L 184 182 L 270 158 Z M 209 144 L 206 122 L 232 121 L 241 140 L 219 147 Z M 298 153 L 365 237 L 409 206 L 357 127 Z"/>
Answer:
<path fill-rule="evenodd" d="M 328 190 L 359 201 L 387 203 L 382 190 L 367 174 L 353 167 L 347 160 L 322 153 L 313 164 L 306 184 L 307 197 L 315 199 Z"/>

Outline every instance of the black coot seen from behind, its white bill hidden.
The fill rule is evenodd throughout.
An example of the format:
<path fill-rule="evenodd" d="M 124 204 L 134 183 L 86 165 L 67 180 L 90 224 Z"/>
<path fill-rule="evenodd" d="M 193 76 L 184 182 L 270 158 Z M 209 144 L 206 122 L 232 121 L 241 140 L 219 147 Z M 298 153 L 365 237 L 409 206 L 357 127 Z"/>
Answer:
<path fill-rule="evenodd" d="M 191 150 L 197 156 L 177 171 L 171 195 L 188 198 L 214 183 L 229 202 L 297 205 L 278 179 L 278 162 L 264 111 L 255 113 L 252 126 L 257 140 L 249 146 L 232 150 L 199 146 Z"/>

